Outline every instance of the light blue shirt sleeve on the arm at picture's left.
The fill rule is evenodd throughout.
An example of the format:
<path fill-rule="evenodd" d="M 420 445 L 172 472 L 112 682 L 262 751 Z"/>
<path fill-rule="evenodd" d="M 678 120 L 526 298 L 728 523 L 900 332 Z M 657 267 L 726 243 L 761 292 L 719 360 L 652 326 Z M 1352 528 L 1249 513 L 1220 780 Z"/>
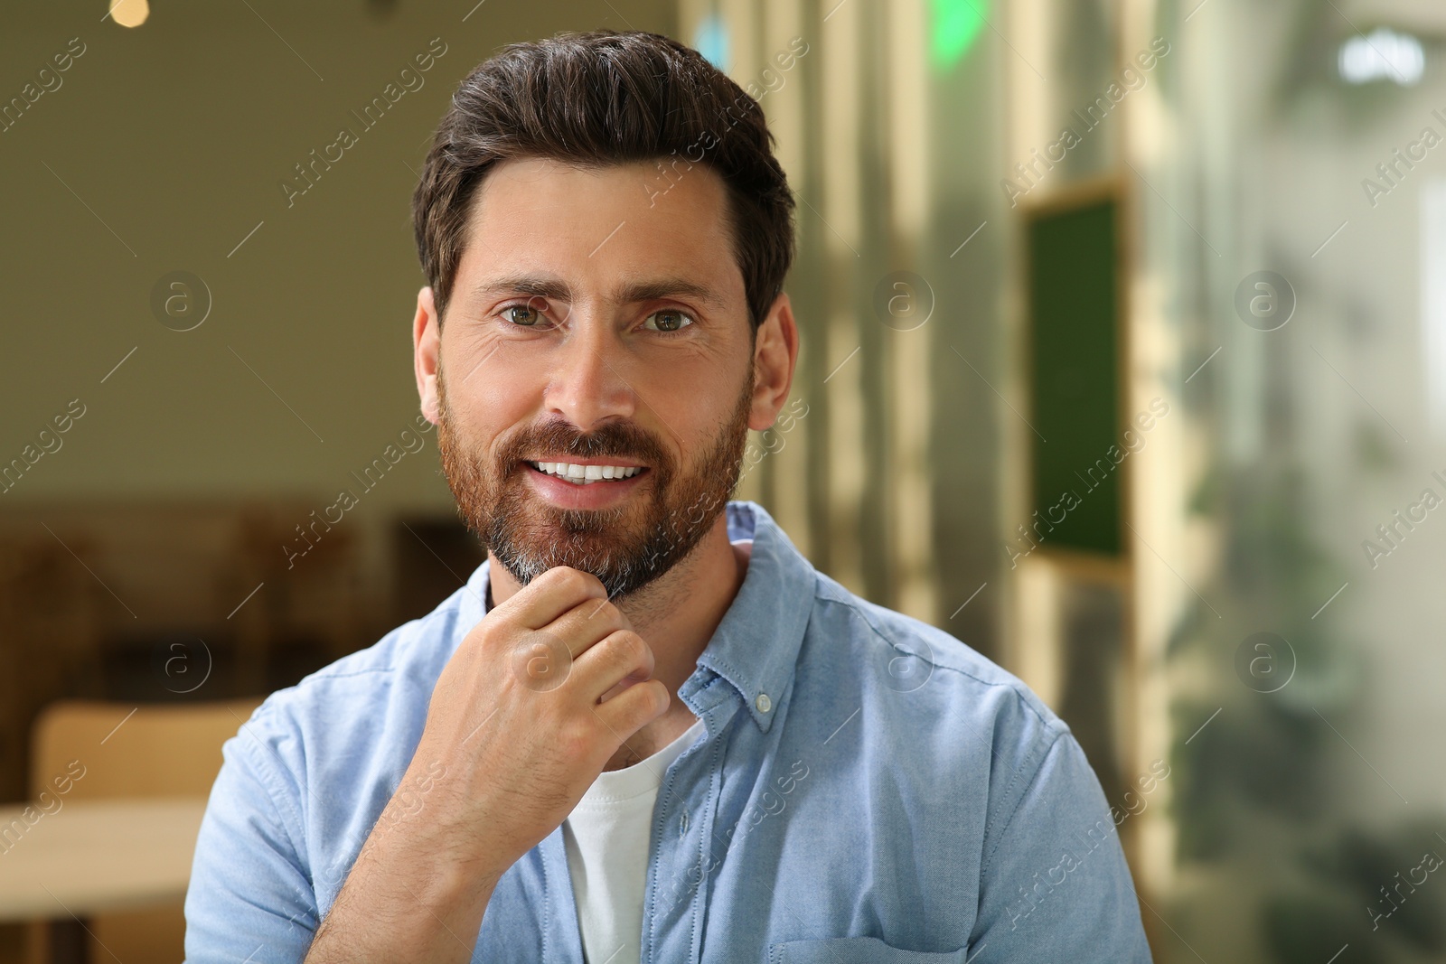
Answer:
<path fill-rule="evenodd" d="M 185 896 L 187 964 L 298 964 L 317 929 L 299 814 L 252 726 L 221 747 L 201 821 Z"/>

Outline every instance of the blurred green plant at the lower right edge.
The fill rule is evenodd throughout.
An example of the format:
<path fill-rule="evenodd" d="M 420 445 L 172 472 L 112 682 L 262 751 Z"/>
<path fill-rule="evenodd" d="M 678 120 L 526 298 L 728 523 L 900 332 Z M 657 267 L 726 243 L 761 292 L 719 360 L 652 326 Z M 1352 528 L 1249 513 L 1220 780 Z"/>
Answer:
<path fill-rule="evenodd" d="M 1272 421 L 1284 432 L 1288 416 L 1277 410 Z M 1257 872 L 1258 939 L 1283 964 L 1323 964 L 1346 944 L 1358 964 L 1440 954 L 1446 880 L 1416 886 L 1390 918 L 1372 919 L 1372 909 L 1391 911 L 1382 887 L 1398 885 L 1395 874 L 1423 853 L 1446 854 L 1436 835 L 1446 819 L 1369 831 L 1332 792 L 1345 747 L 1327 720 L 1361 708 L 1365 666 L 1333 630 L 1340 620 L 1313 619 L 1348 577 L 1310 538 L 1307 481 L 1278 455 L 1218 467 L 1190 500 L 1222 528 L 1226 548 L 1218 578 L 1202 587 L 1213 610 L 1196 606 L 1167 650 L 1171 663 L 1207 676 L 1171 708 L 1177 860 Z M 1236 676 L 1236 649 L 1259 630 L 1284 637 L 1296 658 L 1290 682 L 1274 692 Z"/>

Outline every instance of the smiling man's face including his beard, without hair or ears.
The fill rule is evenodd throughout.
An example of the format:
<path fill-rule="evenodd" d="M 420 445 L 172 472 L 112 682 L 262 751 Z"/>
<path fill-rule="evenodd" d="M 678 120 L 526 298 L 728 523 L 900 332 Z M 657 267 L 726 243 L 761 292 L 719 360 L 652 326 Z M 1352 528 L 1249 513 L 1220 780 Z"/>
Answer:
<path fill-rule="evenodd" d="M 622 597 L 662 575 L 723 510 L 750 422 L 772 422 L 723 182 L 656 181 L 512 160 L 471 208 L 438 447 L 463 517 L 522 585 L 568 565 Z"/>

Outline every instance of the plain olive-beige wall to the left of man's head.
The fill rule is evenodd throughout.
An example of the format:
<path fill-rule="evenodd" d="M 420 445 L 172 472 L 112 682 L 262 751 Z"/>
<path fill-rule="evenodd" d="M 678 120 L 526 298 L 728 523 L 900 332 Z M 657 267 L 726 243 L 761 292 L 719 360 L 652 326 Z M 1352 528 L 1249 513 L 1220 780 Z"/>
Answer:
<path fill-rule="evenodd" d="M 669 0 L 249 6 L 158 3 L 137 29 L 104 0 L 6 12 L 4 101 L 71 38 L 84 53 L 0 133 L 0 464 L 72 399 L 85 413 L 0 507 L 356 487 L 416 413 L 408 204 L 457 81 L 506 42 L 677 20 Z M 434 38 L 424 85 L 363 129 L 350 111 Z M 357 143 L 288 207 L 279 181 L 341 126 Z M 194 331 L 152 314 L 174 270 L 213 292 Z M 451 504 L 425 438 L 356 512 Z"/>

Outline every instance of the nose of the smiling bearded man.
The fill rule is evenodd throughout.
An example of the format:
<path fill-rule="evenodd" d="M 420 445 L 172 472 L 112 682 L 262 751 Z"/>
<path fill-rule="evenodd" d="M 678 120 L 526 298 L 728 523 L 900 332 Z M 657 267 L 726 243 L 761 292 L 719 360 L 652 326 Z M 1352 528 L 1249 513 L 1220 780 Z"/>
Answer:
<path fill-rule="evenodd" d="M 542 395 L 547 410 L 583 432 L 609 419 L 630 419 L 638 403 L 635 376 L 625 374 L 626 351 L 612 324 L 574 306 L 568 327 Z"/>

